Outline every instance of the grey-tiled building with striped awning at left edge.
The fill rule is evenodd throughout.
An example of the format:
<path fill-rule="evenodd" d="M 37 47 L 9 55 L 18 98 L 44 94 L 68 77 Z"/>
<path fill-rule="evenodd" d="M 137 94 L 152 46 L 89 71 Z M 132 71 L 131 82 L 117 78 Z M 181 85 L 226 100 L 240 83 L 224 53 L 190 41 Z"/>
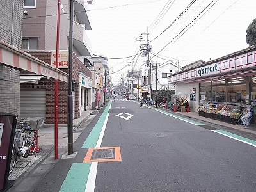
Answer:
<path fill-rule="evenodd" d="M 0 8 L 0 108 L 20 119 L 20 71 L 37 78 L 58 79 L 67 83 L 68 74 L 51 67 L 35 56 L 22 51 L 22 17 L 24 1 L 3 1 Z M 30 80 L 31 81 L 31 80 Z M 30 98 L 33 95 L 29 95 Z"/>

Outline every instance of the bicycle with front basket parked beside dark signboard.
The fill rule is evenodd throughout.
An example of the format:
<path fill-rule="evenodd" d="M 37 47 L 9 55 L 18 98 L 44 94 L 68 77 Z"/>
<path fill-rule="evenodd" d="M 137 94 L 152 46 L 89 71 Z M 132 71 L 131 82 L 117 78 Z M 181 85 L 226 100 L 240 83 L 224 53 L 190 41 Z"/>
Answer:
<path fill-rule="evenodd" d="M 29 122 L 20 120 L 21 128 L 15 130 L 9 174 L 12 173 L 17 159 L 20 157 L 27 158 L 28 156 L 35 154 L 36 142 L 38 141 L 38 127 L 42 127 L 44 118 L 41 118 L 39 123 L 40 125 L 38 126 L 37 120 L 36 127 L 32 128 Z M 20 145 L 21 138 L 22 145 Z"/>

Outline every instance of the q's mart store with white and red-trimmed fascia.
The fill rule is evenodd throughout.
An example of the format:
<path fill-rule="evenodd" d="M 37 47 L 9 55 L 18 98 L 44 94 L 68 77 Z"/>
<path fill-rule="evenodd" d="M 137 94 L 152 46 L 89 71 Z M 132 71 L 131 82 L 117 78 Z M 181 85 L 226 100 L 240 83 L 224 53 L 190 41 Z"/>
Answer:
<path fill-rule="evenodd" d="M 175 84 L 176 95 L 188 95 L 191 111 L 199 111 L 199 115 L 209 118 L 222 115 L 223 120 L 228 116 L 225 120 L 228 122 L 232 110 L 239 106 L 246 111 L 255 111 L 255 52 L 256 45 L 253 45 L 216 60 L 184 68 L 172 74 L 169 83 Z"/>

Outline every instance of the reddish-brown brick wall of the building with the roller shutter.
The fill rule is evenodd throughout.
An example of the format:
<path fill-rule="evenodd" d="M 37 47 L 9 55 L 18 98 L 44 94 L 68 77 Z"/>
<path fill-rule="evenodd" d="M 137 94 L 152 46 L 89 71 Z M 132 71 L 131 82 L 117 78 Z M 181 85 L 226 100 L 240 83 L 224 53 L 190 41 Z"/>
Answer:
<path fill-rule="evenodd" d="M 29 54 L 35 56 L 36 58 L 45 61 L 46 63 L 51 63 L 51 52 L 29 52 Z M 86 76 L 92 78 L 91 71 L 78 59 L 75 55 L 73 55 L 73 70 L 72 70 L 72 79 L 76 81 L 73 84 L 75 97 L 73 100 L 75 101 L 75 108 L 73 109 L 75 112 L 74 118 L 79 118 L 79 72 L 83 72 Z M 64 72 L 68 73 L 68 69 L 61 69 Z M 60 124 L 67 123 L 68 116 L 68 83 L 63 81 L 59 82 L 59 103 L 58 103 L 58 122 Z M 22 88 L 42 88 L 46 89 L 46 121 L 47 124 L 54 123 L 54 113 L 55 113 L 55 80 L 52 78 L 49 79 L 40 79 L 39 84 L 37 86 L 32 86 L 31 84 L 22 84 Z"/>

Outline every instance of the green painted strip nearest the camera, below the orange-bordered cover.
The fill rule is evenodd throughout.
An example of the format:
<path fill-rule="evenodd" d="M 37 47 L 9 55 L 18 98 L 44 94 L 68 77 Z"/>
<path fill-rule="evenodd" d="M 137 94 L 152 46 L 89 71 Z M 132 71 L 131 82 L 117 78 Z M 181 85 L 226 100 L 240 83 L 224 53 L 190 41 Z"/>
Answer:
<path fill-rule="evenodd" d="M 73 163 L 59 192 L 84 192 L 91 163 Z"/>

